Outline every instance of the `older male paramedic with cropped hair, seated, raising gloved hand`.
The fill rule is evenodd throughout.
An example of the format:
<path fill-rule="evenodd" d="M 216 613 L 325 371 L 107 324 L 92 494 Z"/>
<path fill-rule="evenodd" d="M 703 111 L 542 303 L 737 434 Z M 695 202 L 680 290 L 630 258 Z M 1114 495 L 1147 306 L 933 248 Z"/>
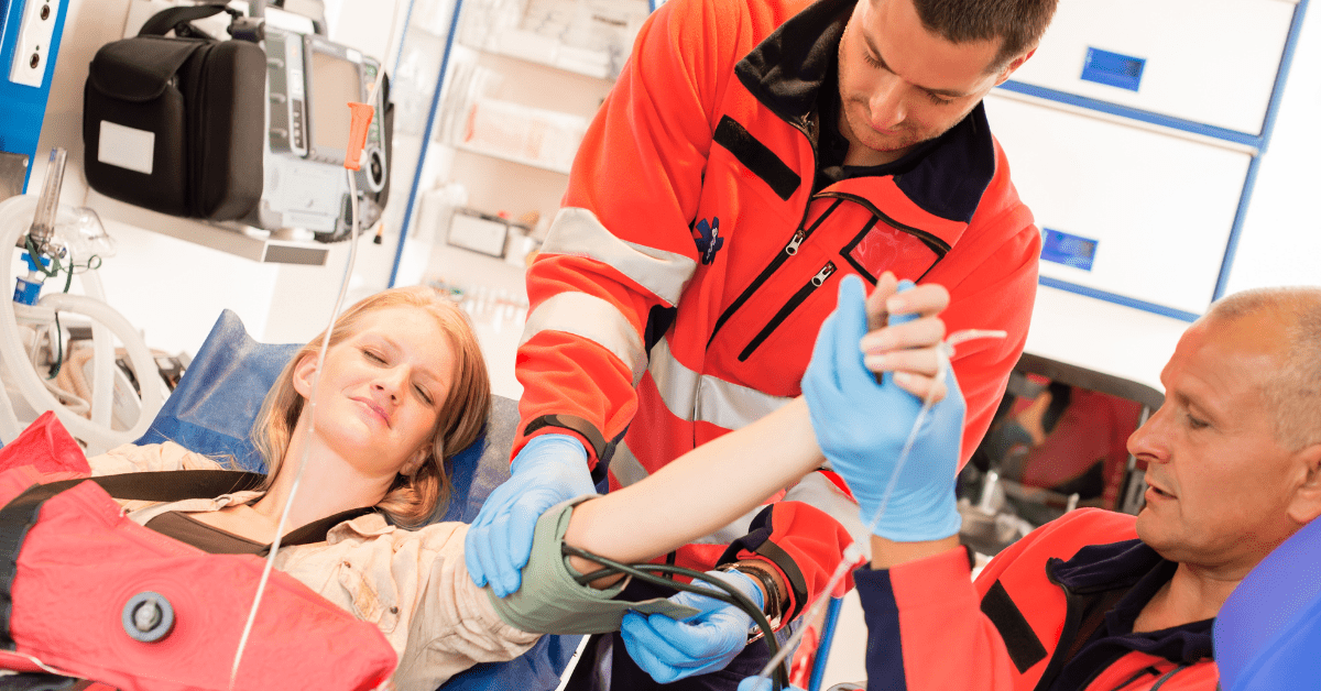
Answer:
<path fill-rule="evenodd" d="M 958 388 L 930 411 L 908 462 L 897 465 L 921 406 L 889 382 L 877 386 L 845 347 L 867 330 L 861 291 L 852 288 L 820 330 L 803 398 L 863 515 L 885 506 L 871 568 L 855 572 L 869 634 L 867 687 L 1242 690 L 1219 678 L 1215 658 L 1226 650 L 1211 645 L 1215 617 L 1248 572 L 1321 515 L 1321 288 L 1266 288 L 1215 303 L 1161 371 L 1165 403 L 1128 437 L 1147 465 L 1137 517 L 1065 514 L 1000 552 L 976 583 L 959 546 L 950 478 Z M 906 406 L 908 419 L 863 427 L 859 411 L 877 406 Z M 1310 589 L 1291 593 L 1289 585 L 1276 584 L 1275 628 L 1306 612 Z M 1234 638 L 1293 642 L 1271 629 Z M 1281 671 L 1263 676 L 1279 680 Z M 1316 676 L 1292 676 L 1295 684 L 1273 688 L 1317 688 Z M 749 679 L 738 688 L 770 687 Z"/>

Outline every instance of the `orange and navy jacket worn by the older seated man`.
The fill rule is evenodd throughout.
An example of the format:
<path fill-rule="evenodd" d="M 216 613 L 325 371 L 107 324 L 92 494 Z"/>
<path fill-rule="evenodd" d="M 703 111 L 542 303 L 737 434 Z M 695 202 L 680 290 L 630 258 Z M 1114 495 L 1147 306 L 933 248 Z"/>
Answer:
<path fill-rule="evenodd" d="M 996 555 L 976 583 L 963 550 L 857 571 L 868 687 L 1214 691 L 1214 620 L 1132 633 L 1177 568 L 1133 525 L 1071 511 Z"/>

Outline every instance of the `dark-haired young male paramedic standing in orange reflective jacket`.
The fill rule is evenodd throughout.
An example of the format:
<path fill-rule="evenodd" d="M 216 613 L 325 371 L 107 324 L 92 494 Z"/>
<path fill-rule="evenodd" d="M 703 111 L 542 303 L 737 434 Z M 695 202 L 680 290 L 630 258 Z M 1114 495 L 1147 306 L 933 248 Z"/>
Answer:
<path fill-rule="evenodd" d="M 606 465 L 612 486 L 635 482 L 797 395 L 849 273 L 942 284 L 950 330 L 1008 332 L 954 362 L 966 461 L 1021 353 L 1040 254 L 980 103 L 1030 55 L 1054 4 L 662 5 L 528 270 L 513 478 L 468 535 L 474 581 L 518 589 L 536 517 L 592 491 Z M 909 310 L 900 299 L 892 312 Z M 723 576 L 787 624 L 852 540 L 840 485 L 814 473 L 671 560 L 734 567 Z M 660 620 L 625 621 L 633 659 L 614 646 L 618 686 L 643 684 L 633 661 L 658 682 L 721 669 L 750 622 L 724 605 Z"/>

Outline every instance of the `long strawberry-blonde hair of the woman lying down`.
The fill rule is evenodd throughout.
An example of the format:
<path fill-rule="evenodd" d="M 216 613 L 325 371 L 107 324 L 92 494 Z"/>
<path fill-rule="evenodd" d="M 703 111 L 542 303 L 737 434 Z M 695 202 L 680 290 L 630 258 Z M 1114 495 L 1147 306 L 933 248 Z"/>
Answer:
<path fill-rule="evenodd" d="M 392 288 L 361 300 L 336 320 L 330 329 L 330 346 L 354 336 L 366 314 L 395 307 L 415 307 L 429 313 L 454 350 L 449 395 L 440 407 L 427 458 L 412 476 L 396 477 L 386 498 L 376 505 L 396 525 L 415 527 L 448 503 L 450 484 L 446 464 L 454 453 L 477 441 L 490 412 L 491 394 L 486 362 L 468 317 L 435 288 Z M 266 395 L 252 425 L 252 443 L 267 462 L 267 488 L 280 472 L 293 427 L 303 414 L 304 398 L 293 388 L 293 370 L 304 357 L 317 357 L 324 337 L 325 332 L 299 349 Z"/>

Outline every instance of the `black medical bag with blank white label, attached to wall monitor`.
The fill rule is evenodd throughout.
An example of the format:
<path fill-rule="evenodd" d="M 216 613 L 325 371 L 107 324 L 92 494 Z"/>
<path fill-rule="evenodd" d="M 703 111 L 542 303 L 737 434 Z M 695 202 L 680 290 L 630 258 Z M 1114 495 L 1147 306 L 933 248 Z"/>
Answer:
<path fill-rule="evenodd" d="M 188 22 L 223 5 L 157 13 L 102 46 L 83 89 L 87 184 L 172 215 L 232 221 L 262 198 L 266 52 Z M 176 37 L 164 34 L 174 30 Z"/>

